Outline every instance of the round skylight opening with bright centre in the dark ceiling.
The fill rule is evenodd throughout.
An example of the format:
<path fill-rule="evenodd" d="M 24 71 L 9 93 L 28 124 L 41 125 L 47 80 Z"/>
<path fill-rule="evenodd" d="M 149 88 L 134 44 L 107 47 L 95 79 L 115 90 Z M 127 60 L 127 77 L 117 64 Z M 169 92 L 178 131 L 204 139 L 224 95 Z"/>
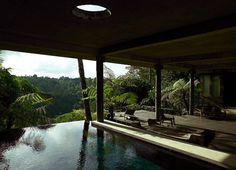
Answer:
<path fill-rule="evenodd" d="M 111 11 L 98 4 L 98 0 L 81 1 L 80 4 L 72 10 L 72 13 L 79 18 L 88 20 L 104 19 L 111 16 Z"/>

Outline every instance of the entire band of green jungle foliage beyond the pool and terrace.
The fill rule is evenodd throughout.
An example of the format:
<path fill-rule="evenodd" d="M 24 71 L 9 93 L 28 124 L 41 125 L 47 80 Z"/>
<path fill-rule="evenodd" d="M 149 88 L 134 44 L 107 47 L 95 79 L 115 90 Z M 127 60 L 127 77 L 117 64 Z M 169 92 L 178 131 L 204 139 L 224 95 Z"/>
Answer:
<path fill-rule="evenodd" d="M 83 120 L 83 100 L 90 100 L 96 110 L 96 79 L 87 78 L 88 88 L 82 97 L 80 78 L 16 77 L 0 61 L 0 123 L 22 127 L 50 122 Z M 104 66 L 104 105 L 108 111 L 127 107 L 154 106 L 155 70 L 129 66 L 128 73 L 115 78 L 112 70 Z M 162 71 L 162 104 L 178 110 L 188 109 L 188 73 Z M 48 95 L 45 95 L 48 94 Z M 52 98 L 54 103 L 52 104 Z M 51 104 L 51 105 L 49 105 Z M 48 106 L 49 105 L 49 106 Z M 46 109 L 47 106 L 47 109 Z M 46 115 L 46 110 L 48 116 Z M 96 114 L 93 114 L 95 119 Z"/>

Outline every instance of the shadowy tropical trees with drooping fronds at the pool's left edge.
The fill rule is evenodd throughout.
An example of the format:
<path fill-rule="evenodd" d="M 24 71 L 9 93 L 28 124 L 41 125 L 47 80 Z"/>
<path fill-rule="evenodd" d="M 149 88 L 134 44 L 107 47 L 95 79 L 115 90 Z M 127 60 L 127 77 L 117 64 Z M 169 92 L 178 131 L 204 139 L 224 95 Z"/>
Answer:
<path fill-rule="evenodd" d="M 2 60 L 1 60 L 2 62 Z M 26 80 L 0 67 L 0 123 L 2 127 L 23 127 L 45 122 L 45 107 L 52 98 L 39 93 Z"/>

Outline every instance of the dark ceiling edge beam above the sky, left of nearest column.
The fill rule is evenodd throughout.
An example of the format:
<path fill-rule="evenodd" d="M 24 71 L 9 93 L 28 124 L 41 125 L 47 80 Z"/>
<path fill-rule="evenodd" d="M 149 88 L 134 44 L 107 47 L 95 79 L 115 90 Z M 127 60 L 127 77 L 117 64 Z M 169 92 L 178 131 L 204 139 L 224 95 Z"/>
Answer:
<path fill-rule="evenodd" d="M 53 56 L 95 60 L 98 50 L 79 44 L 0 30 L 1 50 L 13 50 Z"/>

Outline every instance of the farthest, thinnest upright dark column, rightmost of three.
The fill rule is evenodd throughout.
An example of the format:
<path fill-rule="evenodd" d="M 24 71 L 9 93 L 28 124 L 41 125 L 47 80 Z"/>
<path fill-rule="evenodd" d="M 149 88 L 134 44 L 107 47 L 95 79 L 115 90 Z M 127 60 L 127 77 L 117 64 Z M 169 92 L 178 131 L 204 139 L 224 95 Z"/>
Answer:
<path fill-rule="evenodd" d="M 194 75 L 195 71 L 190 71 L 190 91 L 189 91 L 189 114 L 194 113 Z"/>

